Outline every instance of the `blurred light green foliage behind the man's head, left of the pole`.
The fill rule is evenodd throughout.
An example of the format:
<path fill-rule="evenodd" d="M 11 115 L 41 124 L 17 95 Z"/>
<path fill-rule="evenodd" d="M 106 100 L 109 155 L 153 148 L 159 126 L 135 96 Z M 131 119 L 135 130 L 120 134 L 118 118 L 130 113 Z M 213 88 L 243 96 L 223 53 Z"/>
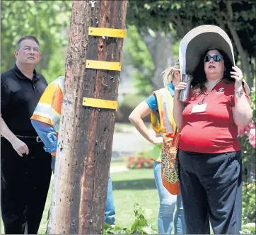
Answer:
<path fill-rule="evenodd" d="M 13 67 L 16 41 L 35 35 L 42 53 L 37 71 L 48 81 L 63 74 L 61 49 L 68 44 L 70 19 L 71 1 L 1 1 L 1 71 Z"/>

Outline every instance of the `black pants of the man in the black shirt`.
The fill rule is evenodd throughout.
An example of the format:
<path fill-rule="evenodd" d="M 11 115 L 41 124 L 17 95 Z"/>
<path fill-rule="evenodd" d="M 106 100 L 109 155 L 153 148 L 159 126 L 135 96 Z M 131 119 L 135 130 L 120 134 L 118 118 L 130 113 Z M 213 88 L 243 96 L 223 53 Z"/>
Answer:
<path fill-rule="evenodd" d="M 1 214 L 6 234 L 37 234 L 51 179 L 51 156 L 35 139 L 21 139 L 29 154 L 19 156 L 1 137 Z"/>

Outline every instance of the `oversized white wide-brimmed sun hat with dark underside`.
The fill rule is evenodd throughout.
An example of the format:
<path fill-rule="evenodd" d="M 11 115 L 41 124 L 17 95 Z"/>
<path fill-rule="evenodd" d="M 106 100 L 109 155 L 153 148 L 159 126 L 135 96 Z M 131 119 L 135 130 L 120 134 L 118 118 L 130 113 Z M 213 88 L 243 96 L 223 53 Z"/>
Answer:
<path fill-rule="evenodd" d="M 180 73 L 192 75 L 200 58 L 211 49 L 225 52 L 235 66 L 233 46 L 228 35 L 216 25 L 201 25 L 190 30 L 180 42 Z M 245 79 L 243 82 L 245 91 L 249 94 L 250 88 Z"/>

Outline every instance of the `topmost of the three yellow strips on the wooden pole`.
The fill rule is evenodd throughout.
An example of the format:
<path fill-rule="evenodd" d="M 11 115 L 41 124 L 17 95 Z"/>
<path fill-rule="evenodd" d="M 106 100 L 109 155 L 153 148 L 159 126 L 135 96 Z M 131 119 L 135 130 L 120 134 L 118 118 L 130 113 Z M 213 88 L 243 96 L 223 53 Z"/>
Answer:
<path fill-rule="evenodd" d="M 115 28 L 93 28 L 89 27 L 89 36 L 105 36 L 112 38 L 124 38 L 125 30 L 119 30 Z"/>

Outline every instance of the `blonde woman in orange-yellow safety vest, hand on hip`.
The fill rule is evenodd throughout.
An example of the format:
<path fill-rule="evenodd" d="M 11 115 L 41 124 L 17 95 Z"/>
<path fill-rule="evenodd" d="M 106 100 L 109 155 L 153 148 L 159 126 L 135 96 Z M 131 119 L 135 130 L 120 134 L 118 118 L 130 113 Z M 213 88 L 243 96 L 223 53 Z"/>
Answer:
<path fill-rule="evenodd" d="M 180 82 L 180 64 L 176 62 L 173 67 L 163 71 L 163 84 L 165 88 L 154 91 L 146 101 L 141 102 L 129 115 L 129 120 L 136 127 L 136 130 L 145 139 L 154 144 L 153 155 L 155 159 L 153 159 L 153 172 L 160 200 L 158 214 L 159 234 L 170 234 L 173 224 L 175 234 L 186 234 L 182 197 L 181 195 L 171 195 L 163 186 L 161 178 L 161 144 L 163 143 L 161 134 L 175 130 L 173 96 L 175 93 L 174 86 L 178 82 Z M 161 113 L 159 113 L 159 110 L 161 110 Z M 148 115 L 151 115 L 151 126 L 155 131 L 154 134 L 149 131 L 143 121 L 144 117 Z M 177 210 L 175 212 L 176 205 Z"/>

